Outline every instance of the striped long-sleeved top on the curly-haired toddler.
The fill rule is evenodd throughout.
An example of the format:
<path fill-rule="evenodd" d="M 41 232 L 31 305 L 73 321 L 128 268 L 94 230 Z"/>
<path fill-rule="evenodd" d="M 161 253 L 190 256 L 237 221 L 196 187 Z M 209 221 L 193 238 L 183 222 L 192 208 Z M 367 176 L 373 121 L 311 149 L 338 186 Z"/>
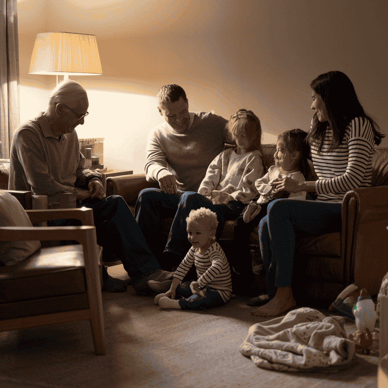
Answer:
<path fill-rule="evenodd" d="M 200 287 L 209 285 L 215 288 L 224 302 L 227 302 L 232 294 L 232 278 L 228 260 L 220 245 L 215 242 L 205 255 L 199 254 L 197 248 L 191 247 L 176 269 L 174 277 L 183 280 L 193 264 L 197 269 Z"/>

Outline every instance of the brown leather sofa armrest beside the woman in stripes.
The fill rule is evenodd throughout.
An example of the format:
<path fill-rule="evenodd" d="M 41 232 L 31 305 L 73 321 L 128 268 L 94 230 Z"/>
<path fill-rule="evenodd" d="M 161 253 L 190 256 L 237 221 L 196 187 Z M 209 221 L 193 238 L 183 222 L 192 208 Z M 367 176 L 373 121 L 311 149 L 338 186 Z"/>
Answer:
<path fill-rule="evenodd" d="M 342 204 L 344 285 L 356 282 L 370 295 L 378 293 L 388 271 L 387 225 L 388 186 L 346 193 Z"/>

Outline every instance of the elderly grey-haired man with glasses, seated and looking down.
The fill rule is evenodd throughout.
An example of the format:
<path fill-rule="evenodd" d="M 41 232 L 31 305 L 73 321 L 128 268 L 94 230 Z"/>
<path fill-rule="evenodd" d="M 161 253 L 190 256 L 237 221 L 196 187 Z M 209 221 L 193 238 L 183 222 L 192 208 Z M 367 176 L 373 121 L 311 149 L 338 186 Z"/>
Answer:
<path fill-rule="evenodd" d="M 60 192 L 75 192 L 77 206 L 93 209 L 99 245 L 120 255 L 130 284 L 142 292 L 148 280 L 163 281 L 172 273 L 161 270 L 124 199 L 106 197 L 102 175 L 85 168 L 74 129 L 83 125 L 88 107 L 87 93 L 78 82 L 66 80 L 57 85 L 48 109 L 21 124 L 14 133 L 8 188 L 47 195 L 49 207 L 59 201 Z M 59 224 L 76 225 L 76 221 L 52 223 Z M 103 281 L 106 291 L 127 288 L 127 282 L 110 277 L 105 267 Z"/>

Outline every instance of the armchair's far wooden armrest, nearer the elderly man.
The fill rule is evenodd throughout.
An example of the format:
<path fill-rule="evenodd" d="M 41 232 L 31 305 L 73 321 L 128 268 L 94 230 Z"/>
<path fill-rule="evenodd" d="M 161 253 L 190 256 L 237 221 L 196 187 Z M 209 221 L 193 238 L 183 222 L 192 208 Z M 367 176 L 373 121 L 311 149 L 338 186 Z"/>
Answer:
<path fill-rule="evenodd" d="M 26 212 L 32 224 L 38 224 L 44 221 L 76 219 L 81 220 L 82 225 L 94 226 L 93 210 L 85 207 L 80 209 L 26 210 Z M 75 238 L 75 240 L 77 239 Z"/>

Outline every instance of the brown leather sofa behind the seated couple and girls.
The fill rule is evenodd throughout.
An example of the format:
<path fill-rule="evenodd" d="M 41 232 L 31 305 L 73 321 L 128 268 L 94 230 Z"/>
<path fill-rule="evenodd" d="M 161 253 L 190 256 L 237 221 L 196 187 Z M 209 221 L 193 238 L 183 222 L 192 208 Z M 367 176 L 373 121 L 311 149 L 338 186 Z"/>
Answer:
<path fill-rule="evenodd" d="M 274 163 L 275 144 L 265 144 L 264 164 Z M 122 196 L 134 211 L 140 190 L 158 187 L 147 182 L 144 174 L 107 179 L 107 195 Z M 163 251 L 172 219 L 162 220 L 158 249 Z M 219 240 L 226 255 L 231 248 L 234 221 L 227 221 Z M 377 295 L 388 271 L 388 148 L 378 148 L 373 157 L 372 187 L 348 191 L 342 207 L 341 232 L 323 235 L 299 235 L 293 269 L 293 292 L 298 305 L 328 306 L 350 283 Z M 250 243 L 258 245 L 253 232 Z M 155 247 L 152 247 L 155 250 Z M 262 285 L 262 278 L 258 290 Z"/>

